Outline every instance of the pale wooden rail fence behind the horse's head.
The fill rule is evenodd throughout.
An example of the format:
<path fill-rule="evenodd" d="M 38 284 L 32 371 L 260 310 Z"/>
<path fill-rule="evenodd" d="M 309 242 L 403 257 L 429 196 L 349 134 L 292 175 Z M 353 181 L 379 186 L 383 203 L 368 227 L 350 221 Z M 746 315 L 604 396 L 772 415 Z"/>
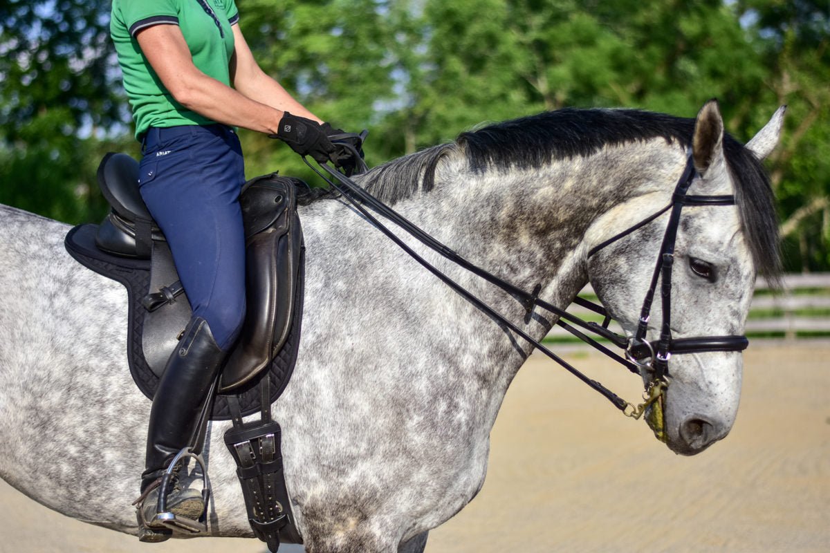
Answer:
<path fill-rule="evenodd" d="M 593 289 L 586 286 L 582 294 L 590 297 Z M 572 305 L 568 311 L 597 320 L 596 315 L 578 305 Z M 830 333 L 830 273 L 788 274 L 784 276 L 784 290 L 779 293 L 770 292 L 764 279 L 759 279 L 745 331 L 749 336 L 767 334 L 788 339 L 805 332 Z M 554 340 L 569 336 L 561 327 L 554 327 L 548 334 Z"/>

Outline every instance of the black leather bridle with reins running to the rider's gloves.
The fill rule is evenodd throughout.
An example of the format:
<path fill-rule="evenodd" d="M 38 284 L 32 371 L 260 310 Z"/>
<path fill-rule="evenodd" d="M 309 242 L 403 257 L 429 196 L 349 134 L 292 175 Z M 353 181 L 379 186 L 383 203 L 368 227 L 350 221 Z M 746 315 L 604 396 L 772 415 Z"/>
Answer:
<path fill-rule="evenodd" d="M 341 137 L 330 138 L 335 146 L 338 148 L 344 148 L 349 153 L 353 154 L 354 158 L 359 159 L 359 167 L 357 172 L 364 172 L 366 170 L 365 163 L 363 163 L 363 160 L 358 155 L 360 143 L 362 143 L 365 138 L 365 131 L 360 135 L 344 133 Z M 652 405 L 657 400 L 662 400 L 662 396 L 665 394 L 665 390 L 669 386 L 670 375 L 668 371 L 668 361 L 672 355 L 699 352 L 740 352 L 745 350 L 749 345 L 749 340 L 747 340 L 747 338 L 743 335 L 690 338 L 673 338 L 671 336 L 671 269 L 674 264 L 674 249 L 677 230 L 680 226 L 681 211 L 683 210 L 683 207 L 686 206 L 735 205 L 734 195 L 695 196 L 687 194 L 689 187 L 691 187 L 691 183 L 694 182 L 695 178 L 699 174 L 695 168 L 694 159 L 691 153 L 687 158 L 686 167 L 683 170 L 683 173 L 675 187 L 675 191 L 671 196 L 671 202 L 667 206 L 652 215 L 647 216 L 637 224 L 628 227 L 626 230 L 623 230 L 617 235 L 612 236 L 608 240 L 604 240 L 602 243 L 594 246 L 588 251 L 588 257 L 591 257 L 599 250 L 603 250 L 603 248 L 613 244 L 624 236 L 641 229 L 648 223 L 657 219 L 657 217 L 666 213 L 666 211 L 671 210 L 669 221 L 666 225 L 666 233 L 663 235 L 660 253 L 657 256 L 657 264 L 655 266 L 654 273 L 652 274 L 652 281 L 646 297 L 642 302 L 637 332 L 635 332 L 632 337 L 623 336 L 608 328 L 608 324 L 613 319 L 602 305 L 590 302 L 583 298 L 574 298 L 574 303 L 603 316 L 602 324 L 584 321 L 583 319 L 540 299 L 540 284 L 535 287 L 532 293 L 528 293 L 525 290 L 517 288 L 515 285 L 510 284 L 504 279 L 500 279 L 496 275 L 487 272 L 485 269 L 481 269 L 475 264 L 471 264 L 469 261 L 461 257 L 461 255 L 458 255 L 446 245 L 443 245 L 438 240 L 432 238 L 432 236 L 428 235 L 426 232 L 413 225 L 412 222 L 398 214 L 397 211 L 394 211 L 391 207 L 387 206 L 382 201 L 379 201 L 377 198 L 369 194 L 369 192 L 366 192 L 362 187 L 359 187 L 349 177 L 337 171 L 333 167 L 330 167 L 328 164 L 320 164 L 320 167 L 328 173 L 329 177 L 334 177 L 334 181 L 337 182 L 336 184 L 323 172 L 320 172 L 313 167 L 308 160 L 305 160 L 305 163 L 321 178 L 323 178 L 325 182 L 328 182 L 330 187 L 334 188 L 334 190 L 339 192 L 347 201 L 349 201 L 349 203 L 354 206 L 354 208 L 359 211 L 359 213 L 364 216 L 367 221 L 377 227 L 378 230 L 383 232 L 384 235 L 387 235 L 390 240 L 393 240 L 395 244 L 406 251 L 408 255 L 412 256 L 413 259 L 419 264 L 422 264 L 424 268 L 432 274 L 435 274 L 442 280 L 442 282 L 450 286 L 450 288 L 455 290 L 457 293 L 461 294 L 463 298 L 475 305 L 476 308 L 481 309 L 481 311 L 492 318 L 500 327 L 505 330 L 509 329 L 521 338 L 525 339 L 527 342 L 530 342 L 536 349 L 544 353 L 544 355 L 559 363 L 559 365 L 574 374 L 574 376 L 577 376 L 579 380 L 593 388 L 593 390 L 597 390 L 605 398 L 610 400 L 614 406 L 623 411 L 625 415 L 634 419 L 639 419 L 649 405 Z M 643 395 L 644 402 L 639 405 L 633 405 L 632 403 L 629 403 L 614 394 L 611 390 L 608 390 L 608 388 L 600 384 L 598 381 L 594 381 L 593 379 L 588 378 L 588 376 L 583 375 L 583 373 L 574 368 L 574 366 L 571 366 L 567 361 L 564 361 L 564 359 L 557 356 L 554 352 L 549 351 L 549 349 L 544 347 L 543 344 L 535 340 L 533 337 L 530 337 L 520 327 L 516 326 L 515 323 L 512 323 L 500 313 L 497 313 L 496 310 L 482 302 L 479 298 L 476 298 L 476 296 L 474 296 L 469 290 L 465 289 L 460 284 L 457 284 L 454 280 L 450 279 L 446 274 L 443 274 L 427 260 L 424 260 L 420 255 L 417 255 L 417 253 L 405 242 L 403 242 L 403 240 L 398 238 L 397 235 L 395 235 L 371 213 L 369 213 L 364 205 L 369 206 L 369 208 L 377 212 L 379 215 L 389 221 L 392 221 L 401 229 L 406 230 L 410 235 L 422 242 L 423 245 L 435 250 L 438 254 L 447 258 L 447 260 L 450 260 L 461 266 L 463 269 L 476 274 L 482 279 L 485 279 L 487 282 L 495 284 L 511 297 L 515 298 L 516 301 L 520 302 L 525 308 L 525 324 L 530 323 L 530 317 L 533 310 L 538 306 L 546 311 L 549 311 L 550 313 L 556 314 L 559 317 L 556 324 L 560 327 L 564 327 L 565 330 L 572 333 L 575 337 L 578 337 L 580 340 L 588 343 L 588 345 L 594 347 L 599 352 L 603 352 L 608 357 L 618 361 L 632 373 L 640 375 L 641 370 L 646 370 L 651 373 L 647 390 Z M 662 330 L 658 340 L 649 342 L 646 339 L 648 321 L 651 316 L 652 302 L 657 290 L 657 280 L 660 277 L 662 277 Z M 608 347 L 605 347 L 602 343 L 597 342 L 582 331 L 592 332 L 593 334 L 612 342 L 615 346 L 624 350 L 625 357 L 620 356 L 617 352 L 611 351 Z"/>

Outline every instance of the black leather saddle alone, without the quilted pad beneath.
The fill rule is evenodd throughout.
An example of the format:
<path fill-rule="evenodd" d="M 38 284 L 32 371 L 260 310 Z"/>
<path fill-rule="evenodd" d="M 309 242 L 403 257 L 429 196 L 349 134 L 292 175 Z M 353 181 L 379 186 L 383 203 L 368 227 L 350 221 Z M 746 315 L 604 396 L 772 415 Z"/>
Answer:
<path fill-rule="evenodd" d="M 101 161 L 98 181 L 112 209 L 95 230 L 95 247 L 125 260 L 149 260 L 149 289 L 141 299 L 141 347 L 134 349 L 140 349 L 149 368 L 161 376 L 191 309 L 164 234 L 139 193 L 138 172 L 139 163 L 125 153 L 108 153 Z M 308 188 L 299 179 L 276 173 L 251 179 L 242 187 L 247 314 L 222 370 L 220 393 L 251 383 L 286 345 L 292 327 L 299 327 L 304 246 L 296 213 L 297 187 Z M 76 234 L 76 240 L 84 235 Z M 72 254 L 70 246 L 67 237 Z M 292 346 L 295 349 L 296 344 Z M 287 378 L 280 387 L 286 383 Z"/>

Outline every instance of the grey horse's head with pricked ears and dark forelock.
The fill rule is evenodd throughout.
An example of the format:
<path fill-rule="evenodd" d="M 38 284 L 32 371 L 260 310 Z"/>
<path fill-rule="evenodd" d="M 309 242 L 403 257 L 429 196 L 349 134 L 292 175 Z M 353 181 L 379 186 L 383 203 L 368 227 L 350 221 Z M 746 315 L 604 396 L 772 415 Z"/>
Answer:
<path fill-rule="evenodd" d="M 645 226 L 637 227 L 637 222 L 655 212 L 653 206 L 675 202 L 676 189 L 666 187 L 666 182 L 647 183 L 642 194 L 624 201 L 613 217 L 603 221 L 596 243 L 624 235 L 588 257 L 588 274 L 603 305 L 627 336 L 636 337 L 642 327 L 642 343 L 656 343 L 666 333 L 672 340 L 740 339 L 756 274 L 761 271 L 775 279 L 779 272 L 772 192 L 760 161 L 778 142 L 783 116 L 781 108 L 744 147 L 725 135 L 714 100 L 701 109 L 689 143 L 691 152 L 679 152 L 683 157 L 678 155 L 671 169 L 666 167 L 666 175 L 671 175 L 666 182 L 673 183 L 684 172 L 685 163 L 685 174 L 691 179 L 688 194 L 699 198 L 679 213 L 668 272 L 660 264 L 665 259 L 662 248 L 666 228 L 671 226 L 671 210 Z M 733 196 L 731 203 L 713 201 Z M 666 280 L 670 282 L 668 301 Z M 642 307 L 649 289 L 656 289 L 650 313 Z M 735 351 L 739 347 L 724 349 L 733 351 L 669 352 L 665 356 L 668 386 L 662 401 L 648 408 L 646 418 L 677 454 L 700 453 L 723 439 L 735 422 L 742 355 Z M 652 352 L 651 357 L 659 353 Z M 652 358 L 641 364 L 647 386 L 655 378 Z"/>

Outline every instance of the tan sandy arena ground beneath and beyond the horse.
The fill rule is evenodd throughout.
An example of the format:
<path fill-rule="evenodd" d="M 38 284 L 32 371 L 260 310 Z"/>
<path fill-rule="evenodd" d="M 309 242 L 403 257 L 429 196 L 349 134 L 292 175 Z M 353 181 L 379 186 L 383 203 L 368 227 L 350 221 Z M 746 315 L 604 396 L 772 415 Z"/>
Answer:
<path fill-rule="evenodd" d="M 628 400 L 641 393 L 598 354 L 566 357 Z M 147 546 L 5 483 L 0 505 L 0 553 L 267 551 L 227 538 Z M 427 553 L 490 551 L 830 551 L 830 345 L 753 342 L 735 427 L 692 458 L 534 355 L 496 421 L 484 488 L 427 544 Z"/>

